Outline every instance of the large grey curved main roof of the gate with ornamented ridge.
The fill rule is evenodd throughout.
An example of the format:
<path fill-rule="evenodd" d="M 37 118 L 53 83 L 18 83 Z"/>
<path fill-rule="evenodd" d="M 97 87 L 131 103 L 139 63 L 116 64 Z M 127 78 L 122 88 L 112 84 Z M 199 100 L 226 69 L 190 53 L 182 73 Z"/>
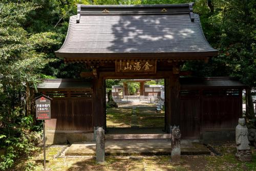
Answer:
<path fill-rule="evenodd" d="M 217 54 L 193 4 L 78 5 L 59 57 L 200 57 Z M 143 55 L 143 56 L 142 56 Z"/>

